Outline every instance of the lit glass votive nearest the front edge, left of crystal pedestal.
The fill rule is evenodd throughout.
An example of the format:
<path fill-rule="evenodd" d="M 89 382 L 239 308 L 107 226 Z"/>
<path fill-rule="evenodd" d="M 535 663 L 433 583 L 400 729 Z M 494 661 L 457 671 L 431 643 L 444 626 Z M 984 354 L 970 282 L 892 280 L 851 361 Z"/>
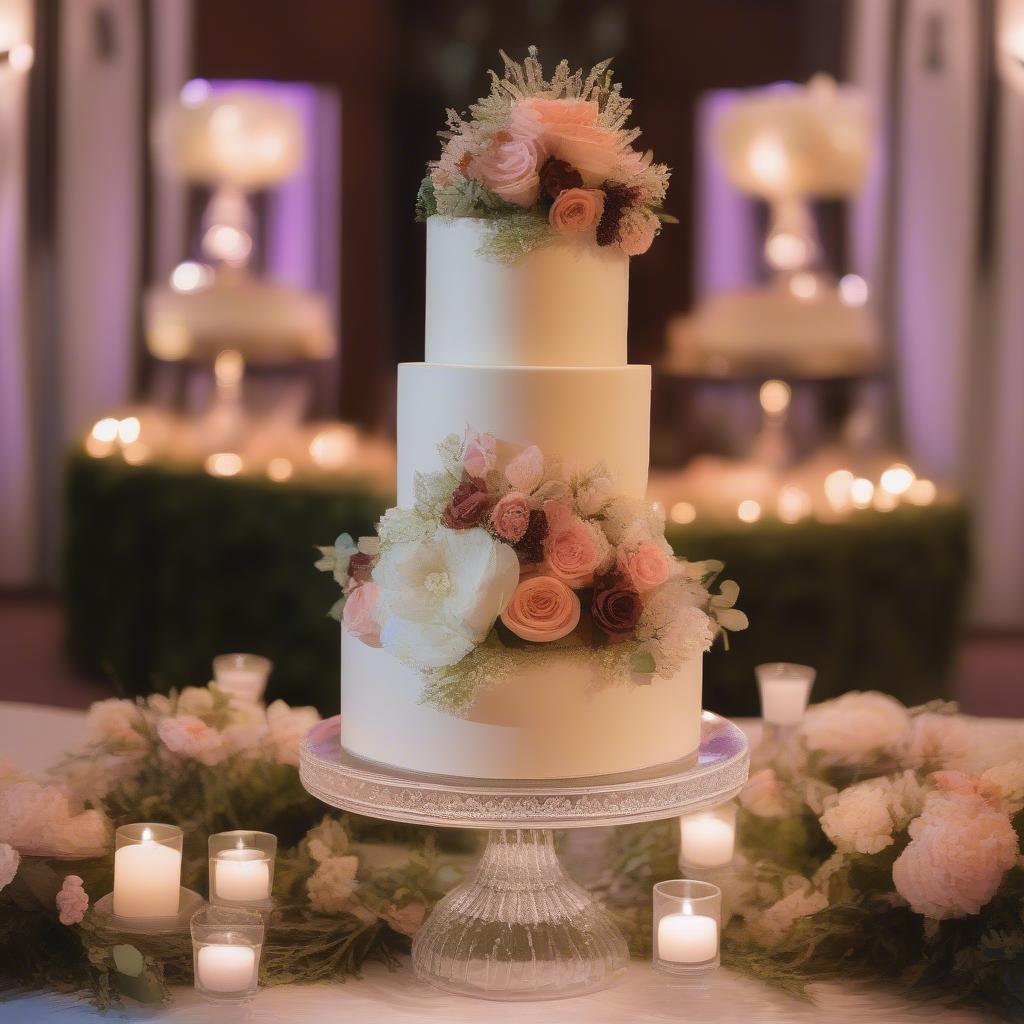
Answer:
<path fill-rule="evenodd" d="M 191 919 L 196 990 L 211 1002 L 241 1002 L 259 987 L 263 919 L 242 907 L 207 906 Z"/>

